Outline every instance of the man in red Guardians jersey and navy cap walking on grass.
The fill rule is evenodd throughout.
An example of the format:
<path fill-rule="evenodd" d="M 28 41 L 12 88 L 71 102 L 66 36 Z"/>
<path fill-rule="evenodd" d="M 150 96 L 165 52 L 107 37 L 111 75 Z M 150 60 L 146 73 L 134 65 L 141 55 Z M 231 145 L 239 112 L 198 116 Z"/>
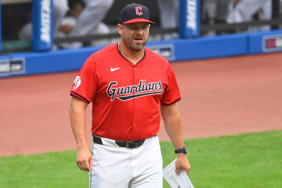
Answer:
<path fill-rule="evenodd" d="M 178 154 L 175 171 L 189 172 L 174 73 L 165 58 L 144 47 L 150 23 L 154 24 L 146 6 L 125 6 L 117 25 L 120 42 L 92 54 L 71 88 L 76 162 L 90 172 L 90 188 L 162 187 L 162 155 L 156 136 L 161 114 Z M 92 154 L 85 135 L 85 110 L 90 102 Z"/>

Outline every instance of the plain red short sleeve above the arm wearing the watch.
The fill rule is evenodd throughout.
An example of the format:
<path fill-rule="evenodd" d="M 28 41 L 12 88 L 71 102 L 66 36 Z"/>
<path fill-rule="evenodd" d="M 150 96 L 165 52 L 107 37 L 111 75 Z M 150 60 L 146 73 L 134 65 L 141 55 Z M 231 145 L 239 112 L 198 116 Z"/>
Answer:
<path fill-rule="evenodd" d="M 168 84 L 164 89 L 161 104 L 169 106 L 181 100 L 178 84 L 170 64 L 167 68 L 167 81 Z"/>

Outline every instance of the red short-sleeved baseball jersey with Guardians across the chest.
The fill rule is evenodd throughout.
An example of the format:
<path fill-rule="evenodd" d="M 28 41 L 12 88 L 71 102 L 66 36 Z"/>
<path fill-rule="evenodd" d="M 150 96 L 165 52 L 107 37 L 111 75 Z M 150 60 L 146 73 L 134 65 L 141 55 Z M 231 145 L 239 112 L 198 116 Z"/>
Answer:
<path fill-rule="evenodd" d="M 148 48 L 144 52 L 134 65 L 116 43 L 85 61 L 70 95 L 92 102 L 94 135 L 118 141 L 152 137 L 160 128 L 160 105 L 181 99 L 168 61 Z"/>

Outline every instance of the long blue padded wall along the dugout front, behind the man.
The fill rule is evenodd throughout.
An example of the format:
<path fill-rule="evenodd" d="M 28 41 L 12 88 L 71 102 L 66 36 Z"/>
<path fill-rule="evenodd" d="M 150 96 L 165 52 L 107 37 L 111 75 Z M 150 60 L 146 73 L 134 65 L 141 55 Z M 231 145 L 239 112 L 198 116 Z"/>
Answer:
<path fill-rule="evenodd" d="M 174 55 L 172 60 L 185 61 L 201 58 L 261 53 L 261 41 L 263 36 L 279 34 L 282 34 L 282 30 L 259 33 L 229 34 L 194 39 L 154 41 L 148 42 L 147 46 L 173 46 Z M 65 72 L 79 70 L 83 66 L 85 60 L 92 53 L 100 50 L 101 48 L 103 48 L 103 46 L 49 52 L 18 53 L 0 56 L 0 60 L 9 61 L 9 59 L 12 58 L 24 58 L 25 71 L 19 73 L 18 75 Z M 16 73 L 0 73 L 0 77 L 14 75 L 16 75 Z"/>

